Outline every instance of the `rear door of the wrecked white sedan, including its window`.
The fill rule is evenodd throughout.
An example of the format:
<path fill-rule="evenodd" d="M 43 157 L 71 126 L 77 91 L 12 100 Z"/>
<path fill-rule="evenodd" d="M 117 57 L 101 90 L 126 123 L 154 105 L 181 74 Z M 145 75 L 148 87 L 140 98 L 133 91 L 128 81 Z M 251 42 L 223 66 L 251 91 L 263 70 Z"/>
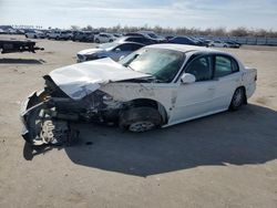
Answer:
<path fill-rule="evenodd" d="M 228 55 L 215 55 L 214 80 L 217 81 L 215 104 L 217 108 L 227 110 L 235 90 L 240 86 L 242 75 L 235 59 Z"/>

